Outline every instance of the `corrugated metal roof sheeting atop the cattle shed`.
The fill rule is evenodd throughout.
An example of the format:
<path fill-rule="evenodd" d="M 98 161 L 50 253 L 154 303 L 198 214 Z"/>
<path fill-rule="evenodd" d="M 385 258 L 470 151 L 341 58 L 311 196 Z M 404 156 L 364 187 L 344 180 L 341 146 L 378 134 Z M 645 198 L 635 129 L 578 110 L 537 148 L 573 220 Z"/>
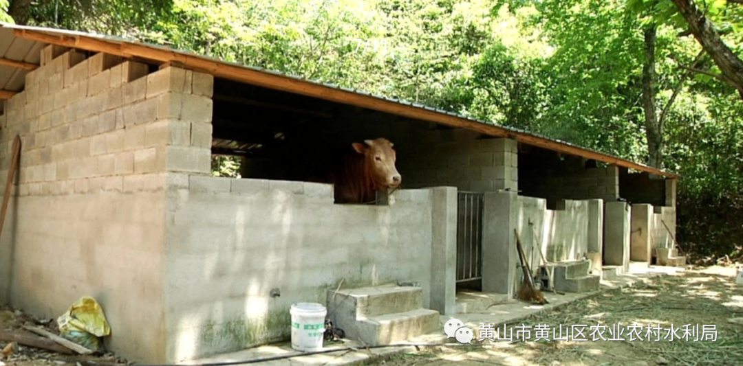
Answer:
<path fill-rule="evenodd" d="M 402 104 L 402 105 L 408 105 L 408 106 L 418 107 L 418 108 L 421 108 L 423 110 L 429 110 L 429 111 L 432 111 L 432 112 L 435 112 L 435 113 L 441 113 L 441 114 L 444 114 L 444 115 L 447 115 L 447 116 L 454 116 L 454 117 L 456 117 L 458 119 L 463 119 L 463 120 L 466 120 L 468 122 L 473 122 L 473 124 L 487 124 L 489 126 L 493 126 L 493 127 L 497 127 L 499 129 L 502 129 L 504 131 L 510 131 L 512 133 L 518 133 L 518 134 L 521 134 L 523 136 L 528 136 L 528 137 L 533 138 L 533 139 L 539 139 L 539 140 L 543 140 L 545 142 L 554 142 L 554 143 L 557 143 L 557 144 L 562 144 L 564 146 L 574 147 L 574 148 L 583 150 L 583 151 L 585 151 L 585 153 L 594 153 L 594 154 L 597 154 L 597 155 L 600 155 L 600 156 L 604 156 L 604 157 L 606 157 L 606 159 L 603 159 L 603 161 L 610 161 L 610 162 L 612 162 L 614 164 L 620 164 L 620 165 L 623 165 L 623 166 L 631 165 L 633 168 L 640 168 L 641 170 L 645 170 L 645 171 L 649 171 L 649 172 L 661 172 L 661 173 L 663 173 L 664 176 L 678 178 L 678 175 L 675 174 L 675 173 L 669 173 L 669 172 L 663 172 L 663 171 L 660 171 L 660 170 L 656 170 L 656 169 L 654 169 L 652 167 L 647 167 L 644 164 L 630 162 L 629 160 L 621 159 L 621 158 L 619 158 L 617 156 L 611 156 L 609 154 L 602 153 L 602 152 L 597 151 L 597 150 L 591 150 L 591 149 L 588 149 L 586 147 L 580 147 L 580 146 L 578 146 L 576 144 L 571 144 L 570 142 L 565 142 L 565 141 L 562 141 L 562 140 L 559 140 L 559 139 L 551 139 L 551 138 L 549 138 L 547 136 L 542 136 L 542 135 L 537 134 L 537 133 L 531 133 L 531 132 L 528 132 L 528 131 L 525 131 L 525 130 L 520 130 L 518 128 L 508 127 L 508 126 L 504 126 L 504 125 L 496 125 L 496 124 L 493 124 L 491 122 L 486 122 L 486 121 L 482 121 L 482 120 L 478 120 L 478 119 L 473 119 L 471 116 L 462 116 L 461 114 L 458 114 L 458 113 L 454 113 L 454 112 L 447 111 L 447 110 L 441 110 L 441 109 L 434 108 L 434 107 L 424 106 L 422 104 L 418 104 L 418 103 L 414 103 L 414 102 L 409 102 L 409 101 L 405 101 L 405 100 L 399 100 L 399 99 L 395 99 L 395 98 L 389 98 L 389 97 L 386 97 L 386 96 L 380 96 L 380 95 L 368 93 L 366 91 L 357 90 L 357 89 L 353 89 L 353 88 L 349 88 L 349 87 L 338 86 L 338 85 L 334 85 L 334 84 L 331 84 L 331 83 L 325 83 L 325 82 L 321 82 L 321 81 L 317 81 L 317 80 L 308 80 L 308 79 L 305 79 L 305 78 L 300 77 L 300 76 L 291 76 L 288 73 L 282 73 L 282 72 L 279 72 L 279 71 L 276 71 L 276 70 L 267 70 L 267 69 L 262 68 L 262 67 L 253 67 L 253 66 L 248 66 L 248 65 L 245 65 L 245 64 L 239 64 L 239 63 L 236 63 L 236 62 L 222 61 L 220 59 L 216 59 L 216 58 L 213 58 L 213 57 L 210 57 L 210 56 L 204 56 L 204 55 L 199 55 L 199 54 L 196 54 L 196 53 L 192 53 L 191 51 L 187 51 L 187 50 L 176 50 L 176 49 L 173 49 L 171 47 L 166 47 L 166 46 L 163 46 L 163 45 L 160 45 L 160 44 L 149 44 L 149 43 L 140 42 L 140 41 L 137 41 L 137 40 L 134 40 L 134 39 L 123 39 L 123 38 L 116 37 L 116 36 L 106 36 L 106 35 L 100 35 L 100 34 L 95 34 L 95 33 L 83 33 L 83 32 L 78 32 L 78 31 L 74 31 L 74 30 L 58 30 L 58 29 L 45 28 L 45 27 L 19 26 L 19 25 L 16 25 L 16 24 L 8 24 L 8 23 L 0 22 L 0 51 L 1 51 L 0 52 L 0 55 L 2 55 L 2 57 L 4 57 L 4 58 L 12 59 L 14 61 L 26 61 L 26 62 L 29 62 L 29 63 L 39 64 L 39 61 L 40 61 L 40 53 L 39 53 L 39 51 L 42 50 L 42 48 L 45 47 L 47 44 L 54 43 L 54 41 L 53 41 L 53 39 L 50 39 L 50 41 L 48 41 L 48 42 L 32 41 L 32 40 L 29 40 L 29 39 L 22 39 L 20 37 L 15 36 L 15 34 L 13 33 L 13 30 L 33 30 L 33 31 L 36 31 L 38 33 L 44 33 L 46 35 L 56 36 L 56 37 L 59 37 L 59 36 L 72 36 L 72 37 L 74 37 L 74 36 L 80 36 L 80 37 L 86 37 L 86 38 L 91 38 L 91 39 L 98 39 L 100 41 L 104 41 L 106 44 L 115 44 L 115 45 L 118 45 L 118 46 L 126 45 L 126 44 L 137 44 L 137 45 L 143 46 L 143 47 L 149 47 L 149 48 L 157 49 L 157 50 L 166 50 L 166 51 L 168 51 L 170 53 L 176 53 L 176 54 L 180 54 L 180 55 L 184 55 L 184 56 L 189 56 L 189 57 L 196 58 L 196 59 L 202 59 L 202 60 L 212 61 L 212 62 L 215 62 L 216 64 L 230 64 L 230 65 L 233 65 L 235 67 L 241 67 L 241 68 L 244 68 L 244 69 L 247 69 L 247 70 L 254 70 L 254 71 L 257 71 L 257 72 L 260 72 L 260 73 L 267 73 L 267 74 L 271 74 L 271 75 L 275 75 L 275 76 L 281 76 L 282 78 L 285 78 L 285 79 L 299 80 L 299 81 L 303 81 L 303 82 L 307 82 L 307 83 L 311 83 L 311 84 L 315 84 L 315 85 L 321 85 L 323 87 L 328 87 L 328 88 L 331 88 L 331 89 L 334 89 L 334 90 L 345 90 L 345 91 L 350 92 L 350 93 L 356 93 L 358 95 L 368 96 L 369 98 L 380 99 L 380 100 L 383 100 L 383 101 L 386 101 L 386 102 L 392 102 L 392 103 L 397 103 L 397 104 Z M 106 50 L 103 50 L 102 49 L 102 50 L 100 50 L 100 52 L 106 52 Z M 0 66 L 0 85 L 3 85 L 4 86 L 2 89 L 4 89 L 4 90 L 11 90 L 11 91 L 22 90 L 23 84 L 25 83 L 25 74 L 26 74 L 26 71 L 25 70 L 13 68 L 13 67 L 7 67 L 7 66 Z M 0 90 L 2 90 L 2 89 L 0 89 Z M 466 127 L 464 127 L 464 128 L 466 128 Z M 522 143 L 530 144 L 528 141 L 527 142 L 522 141 Z M 580 153 L 578 153 L 578 155 L 580 155 Z"/>

